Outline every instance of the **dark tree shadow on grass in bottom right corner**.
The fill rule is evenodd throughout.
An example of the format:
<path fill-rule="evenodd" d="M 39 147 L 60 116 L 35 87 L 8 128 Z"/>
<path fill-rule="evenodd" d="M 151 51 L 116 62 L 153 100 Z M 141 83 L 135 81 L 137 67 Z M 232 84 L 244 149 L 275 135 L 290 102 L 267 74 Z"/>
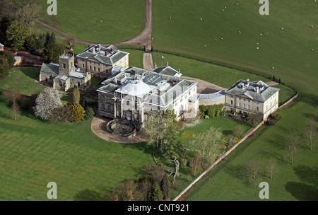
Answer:
<path fill-rule="evenodd" d="M 306 185 L 305 183 L 287 182 L 285 185 L 285 190 L 300 201 L 318 200 L 317 188 L 311 185 Z"/>

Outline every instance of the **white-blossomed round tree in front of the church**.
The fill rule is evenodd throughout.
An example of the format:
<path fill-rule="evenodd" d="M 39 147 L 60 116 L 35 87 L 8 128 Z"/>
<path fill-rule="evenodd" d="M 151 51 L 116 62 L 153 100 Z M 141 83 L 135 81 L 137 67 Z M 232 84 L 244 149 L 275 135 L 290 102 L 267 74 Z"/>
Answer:
<path fill-rule="evenodd" d="M 52 88 L 45 88 L 35 100 L 34 113 L 37 117 L 47 120 L 52 110 L 61 106 L 63 104 L 59 98 L 59 92 Z"/>

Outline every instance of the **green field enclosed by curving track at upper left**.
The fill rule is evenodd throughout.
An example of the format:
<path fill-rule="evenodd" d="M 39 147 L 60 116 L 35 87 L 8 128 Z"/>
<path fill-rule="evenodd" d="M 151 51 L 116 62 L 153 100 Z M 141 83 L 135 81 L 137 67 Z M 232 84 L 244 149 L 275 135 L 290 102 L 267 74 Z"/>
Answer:
<path fill-rule="evenodd" d="M 42 7 L 49 6 L 41 1 Z M 75 35 L 81 40 L 113 43 L 139 35 L 146 22 L 146 1 L 59 1 L 57 16 L 45 13 L 49 25 Z"/>

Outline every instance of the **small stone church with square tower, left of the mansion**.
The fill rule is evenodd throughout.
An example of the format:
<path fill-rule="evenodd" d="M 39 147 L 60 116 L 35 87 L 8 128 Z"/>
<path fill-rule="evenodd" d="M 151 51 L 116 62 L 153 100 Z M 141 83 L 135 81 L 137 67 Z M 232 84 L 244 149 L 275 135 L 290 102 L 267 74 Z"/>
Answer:
<path fill-rule="evenodd" d="M 91 85 L 91 74 L 76 68 L 73 54 L 64 53 L 59 57 L 59 64 L 42 64 L 40 81 L 53 83 L 53 88 L 59 91 L 67 91 L 76 86 L 85 91 Z"/>

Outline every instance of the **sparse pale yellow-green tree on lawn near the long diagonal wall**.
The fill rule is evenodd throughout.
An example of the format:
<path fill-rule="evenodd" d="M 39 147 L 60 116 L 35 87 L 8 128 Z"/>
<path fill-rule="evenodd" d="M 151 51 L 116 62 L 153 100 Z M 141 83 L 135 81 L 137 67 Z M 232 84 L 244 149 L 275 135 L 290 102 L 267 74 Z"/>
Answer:
<path fill-rule="evenodd" d="M 201 153 L 202 160 L 205 159 L 208 163 L 211 163 L 222 153 L 224 142 L 225 138 L 220 129 L 211 127 L 206 132 L 194 134 L 190 146 L 194 151 Z"/>

